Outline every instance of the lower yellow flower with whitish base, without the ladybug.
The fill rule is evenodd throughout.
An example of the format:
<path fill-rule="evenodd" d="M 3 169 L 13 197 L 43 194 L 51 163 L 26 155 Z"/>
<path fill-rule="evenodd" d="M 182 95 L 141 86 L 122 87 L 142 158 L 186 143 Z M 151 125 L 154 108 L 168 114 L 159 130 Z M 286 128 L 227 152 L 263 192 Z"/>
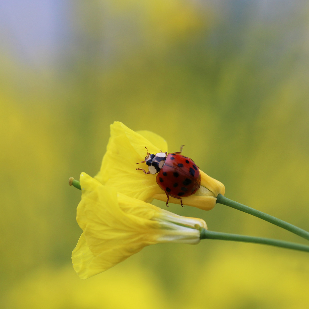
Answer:
<path fill-rule="evenodd" d="M 80 176 L 82 199 L 77 222 L 83 229 L 72 252 L 78 276 L 101 273 L 145 246 L 155 243 L 200 242 L 202 219 L 173 214 L 144 201 L 117 193 L 86 173 Z"/>

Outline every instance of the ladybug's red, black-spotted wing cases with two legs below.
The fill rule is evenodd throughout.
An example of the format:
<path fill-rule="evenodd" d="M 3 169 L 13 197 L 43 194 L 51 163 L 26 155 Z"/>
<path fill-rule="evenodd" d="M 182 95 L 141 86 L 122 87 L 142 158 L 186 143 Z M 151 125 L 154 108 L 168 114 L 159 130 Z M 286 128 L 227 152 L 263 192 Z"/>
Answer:
<path fill-rule="evenodd" d="M 194 194 L 201 186 L 201 174 L 195 163 L 179 153 L 167 155 L 163 167 L 156 177 L 157 184 L 167 195 L 180 199 Z M 168 206 L 168 205 L 167 205 Z"/>

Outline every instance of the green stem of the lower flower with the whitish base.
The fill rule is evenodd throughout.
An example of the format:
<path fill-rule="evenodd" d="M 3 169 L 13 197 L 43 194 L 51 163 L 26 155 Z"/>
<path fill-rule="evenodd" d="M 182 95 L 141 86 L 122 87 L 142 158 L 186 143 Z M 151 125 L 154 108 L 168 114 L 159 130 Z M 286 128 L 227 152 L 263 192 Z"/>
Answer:
<path fill-rule="evenodd" d="M 261 243 L 264 245 L 276 246 L 281 248 L 288 248 L 299 251 L 309 252 L 309 246 L 302 245 L 300 243 L 291 243 L 288 241 L 278 240 L 278 239 L 269 239 L 263 237 L 253 237 L 229 233 L 221 233 L 214 231 L 207 231 L 205 229 L 201 230 L 201 239 L 221 239 L 221 240 L 231 240 L 231 241 L 242 241 L 246 243 Z"/>

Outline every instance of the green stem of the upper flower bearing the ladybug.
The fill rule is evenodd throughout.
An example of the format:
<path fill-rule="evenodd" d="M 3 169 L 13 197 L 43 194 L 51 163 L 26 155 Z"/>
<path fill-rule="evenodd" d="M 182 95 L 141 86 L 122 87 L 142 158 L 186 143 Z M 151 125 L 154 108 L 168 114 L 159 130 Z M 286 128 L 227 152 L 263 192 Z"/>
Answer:
<path fill-rule="evenodd" d="M 260 219 L 263 219 L 265 221 L 268 221 L 270 223 L 273 223 L 277 226 L 280 226 L 298 236 L 301 236 L 305 239 L 308 239 L 309 240 L 309 232 L 293 225 L 293 224 L 290 224 L 288 222 L 285 222 L 283 220 L 280 220 L 276 217 L 273 217 L 269 214 L 265 214 L 263 213 L 262 211 L 259 211 L 259 210 L 256 210 L 254 208 L 251 208 L 251 207 L 248 207 L 246 205 L 243 205 L 243 204 L 240 204 L 238 202 L 235 202 L 235 201 L 232 201 L 230 199 L 228 199 L 227 197 L 224 197 L 222 194 L 218 194 L 217 196 L 217 203 L 220 203 L 220 204 L 223 204 L 223 205 L 226 205 L 226 206 L 229 206 L 229 207 L 232 207 L 232 208 L 235 208 L 235 209 L 238 209 L 238 210 L 241 210 L 247 214 L 251 214 L 252 216 L 255 216 L 255 217 L 258 217 Z"/>

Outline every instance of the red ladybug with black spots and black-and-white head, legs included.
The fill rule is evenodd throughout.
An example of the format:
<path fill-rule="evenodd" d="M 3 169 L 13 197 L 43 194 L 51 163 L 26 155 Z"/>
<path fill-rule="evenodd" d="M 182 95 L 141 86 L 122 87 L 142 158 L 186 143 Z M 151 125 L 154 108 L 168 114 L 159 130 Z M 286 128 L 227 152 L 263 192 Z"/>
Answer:
<path fill-rule="evenodd" d="M 188 157 L 181 155 L 183 146 L 179 152 L 167 154 L 160 150 L 157 154 L 150 154 L 147 147 L 147 156 L 144 161 L 148 171 L 142 168 L 137 168 L 138 171 L 143 171 L 145 174 L 157 174 L 157 184 L 167 195 L 166 205 L 171 197 L 180 199 L 182 207 L 182 197 L 187 197 L 194 194 L 201 186 L 201 174 L 195 163 Z M 168 205 L 167 205 L 168 206 Z"/>

